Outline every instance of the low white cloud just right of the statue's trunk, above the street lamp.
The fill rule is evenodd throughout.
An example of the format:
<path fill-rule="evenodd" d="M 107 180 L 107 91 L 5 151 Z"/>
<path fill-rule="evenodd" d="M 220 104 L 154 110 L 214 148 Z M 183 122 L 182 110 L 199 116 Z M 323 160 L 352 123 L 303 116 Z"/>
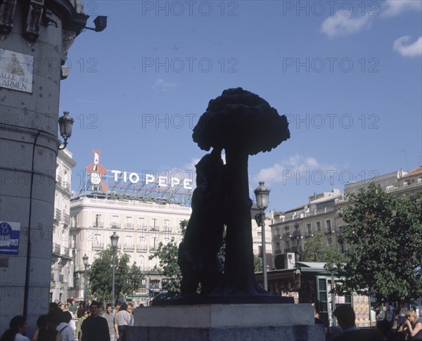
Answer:
<path fill-rule="evenodd" d="M 274 164 L 272 167 L 261 169 L 254 182 L 265 181 L 266 183 L 286 183 L 286 180 L 295 179 L 300 176 L 310 176 L 312 172 L 322 172 L 324 176 L 329 177 L 331 172 L 337 172 L 338 167 L 326 165 L 319 162 L 314 157 L 304 157 L 294 155 L 288 160 L 283 160 Z"/>

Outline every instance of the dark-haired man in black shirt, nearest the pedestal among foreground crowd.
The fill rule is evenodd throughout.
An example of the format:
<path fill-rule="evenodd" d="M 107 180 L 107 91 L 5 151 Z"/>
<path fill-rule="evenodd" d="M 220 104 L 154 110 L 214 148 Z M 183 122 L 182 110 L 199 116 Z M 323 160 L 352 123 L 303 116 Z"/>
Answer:
<path fill-rule="evenodd" d="M 101 304 L 96 301 L 89 305 L 91 316 L 82 322 L 82 341 L 110 341 L 107 320 L 98 316 L 100 307 Z"/>

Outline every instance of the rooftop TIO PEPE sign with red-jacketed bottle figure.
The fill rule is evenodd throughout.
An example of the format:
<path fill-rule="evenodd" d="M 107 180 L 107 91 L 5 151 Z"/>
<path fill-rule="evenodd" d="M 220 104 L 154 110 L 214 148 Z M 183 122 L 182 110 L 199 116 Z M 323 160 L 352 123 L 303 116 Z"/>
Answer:
<path fill-rule="evenodd" d="M 153 187 L 158 186 L 161 189 L 161 192 L 167 192 L 170 189 L 174 191 L 179 191 L 181 188 L 190 192 L 192 190 L 192 179 L 179 179 L 175 176 L 156 176 L 154 174 L 145 173 L 140 176 L 140 174 L 135 172 L 122 172 L 120 170 L 110 170 L 108 171 L 106 167 L 99 163 L 101 157 L 100 150 L 92 150 L 94 153 L 94 163 L 87 167 L 87 173 L 89 174 L 89 181 L 91 182 L 92 191 L 101 191 L 103 193 L 108 193 L 108 186 L 117 188 L 117 184 L 130 183 L 133 185 L 150 185 L 153 184 Z M 179 172 L 180 173 L 180 172 Z M 110 184 L 114 182 L 114 184 Z M 123 186 L 126 188 L 127 186 Z M 112 190 L 113 191 L 113 190 Z M 157 189 L 155 189 L 157 191 Z"/>

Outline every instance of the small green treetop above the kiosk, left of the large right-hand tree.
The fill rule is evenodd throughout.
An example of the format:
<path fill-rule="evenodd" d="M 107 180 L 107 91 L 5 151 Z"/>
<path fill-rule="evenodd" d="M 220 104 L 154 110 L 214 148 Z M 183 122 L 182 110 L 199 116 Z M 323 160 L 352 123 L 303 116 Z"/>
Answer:
<path fill-rule="evenodd" d="M 303 245 L 303 261 L 337 264 L 345 259 L 340 250 L 327 245 L 324 231 L 314 231 L 313 236 L 305 240 Z"/>

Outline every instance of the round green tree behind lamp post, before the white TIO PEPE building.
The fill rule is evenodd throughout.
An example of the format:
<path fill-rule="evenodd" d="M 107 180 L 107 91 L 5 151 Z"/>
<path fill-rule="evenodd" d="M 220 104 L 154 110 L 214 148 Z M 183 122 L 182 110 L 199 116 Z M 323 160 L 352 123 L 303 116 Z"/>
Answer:
<path fill-rule="evenodd" d="M 113 250 L 98 252 L 89 269 L 89 290 L 96 300 L 111 302 L 113 291 Z M 141 287 L 144 275 L 136 266 L 129 265 L 129 256 L 115 255 L 115 297 L 125 297 Z"/>

